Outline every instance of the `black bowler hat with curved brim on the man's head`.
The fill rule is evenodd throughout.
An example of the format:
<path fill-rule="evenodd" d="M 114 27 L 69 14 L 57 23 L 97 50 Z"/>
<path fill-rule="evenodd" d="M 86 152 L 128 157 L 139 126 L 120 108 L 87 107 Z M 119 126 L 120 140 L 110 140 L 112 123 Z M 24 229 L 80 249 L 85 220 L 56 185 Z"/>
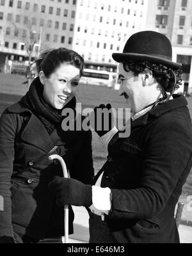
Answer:
<path fill-rule="evenodd" d="M 155 31 L 141 31 L 132 35 L 126 42 L 123 53 L 113 53 L 117 62 L 150 61 L 178 69 L 180 63 L 172 61 L 172 45 L 170 40 Z"/>

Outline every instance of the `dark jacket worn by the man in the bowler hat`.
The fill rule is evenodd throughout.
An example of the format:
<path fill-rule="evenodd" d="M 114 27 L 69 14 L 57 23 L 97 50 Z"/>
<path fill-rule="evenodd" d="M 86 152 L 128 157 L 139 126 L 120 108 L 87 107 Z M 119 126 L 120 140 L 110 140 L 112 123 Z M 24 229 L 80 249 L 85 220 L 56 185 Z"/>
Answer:
<path fill-rule="evenodd" d="M 110 141 L 101 186 L 112 191 L 106 221 L 117 243 L 179 243 L 175 205 L 192 165 L 187 101 L 174 95 Z"/>

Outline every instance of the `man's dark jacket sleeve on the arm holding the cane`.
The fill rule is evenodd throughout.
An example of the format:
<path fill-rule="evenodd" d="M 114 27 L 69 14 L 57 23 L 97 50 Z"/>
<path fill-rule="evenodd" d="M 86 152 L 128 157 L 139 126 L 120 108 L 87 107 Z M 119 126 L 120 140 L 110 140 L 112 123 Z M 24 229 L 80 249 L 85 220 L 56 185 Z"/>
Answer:
<path fill-rule="evenodd" d="M 192 164 L 191 126 L 184 124 L 175 120 L 156 124 L 145 142 L 140 186 L 111 189 L 109 218 L 153 218 L 164 209 L 175 188 L 181 193 Z"/>

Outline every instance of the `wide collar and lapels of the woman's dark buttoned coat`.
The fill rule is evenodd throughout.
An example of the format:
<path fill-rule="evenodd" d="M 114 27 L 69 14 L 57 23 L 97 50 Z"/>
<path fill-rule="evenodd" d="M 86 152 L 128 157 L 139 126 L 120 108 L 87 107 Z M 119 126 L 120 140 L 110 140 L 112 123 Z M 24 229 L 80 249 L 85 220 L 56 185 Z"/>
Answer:
<path fill-rule="evenodd" d="M 61 125 L 58 125 L 58 127 L 49 135 L 42 122 L 40 122 L 28 108 L 22 106 L 22 102 L 13 104 L 8 108 L 8 111 L 17 114 L 29 113 L 29 120 L 22 131 L 21 138 L 27 143 L 41 148 L 45 152 L 54 147 L 54 145 L 65 145 L 74 139 L 74 132 L 63 131 Z"/>

